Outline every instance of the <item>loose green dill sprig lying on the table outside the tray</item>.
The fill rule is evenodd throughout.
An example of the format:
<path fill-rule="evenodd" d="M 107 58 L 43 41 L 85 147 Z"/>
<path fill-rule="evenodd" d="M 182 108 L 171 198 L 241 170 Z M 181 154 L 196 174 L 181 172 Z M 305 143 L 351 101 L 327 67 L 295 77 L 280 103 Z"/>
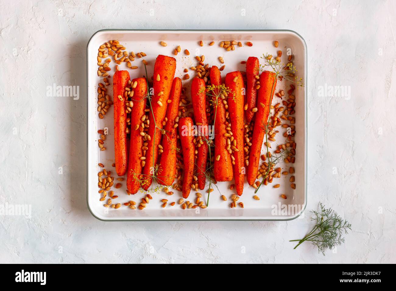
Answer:
<path fill-rule="evenodd" d="M 316 216 L 311 218 L 311 220 L 316 221 L 316 225 L 303 239 L 289 241 L 299 242 L 294 249 L 301 243 L 310 241 L 318 247 L 318 252 L 325 255 L 326 249 L 333 249 L 336 245 L 345 242 L 343 234 L 348 234 L 348 230 L 352 229 L 348 221 L 341 218 L 333 209 L 326 209 L 322 203 L 320 203 L 319 212 L 314 210 L 310 212 Z"/>

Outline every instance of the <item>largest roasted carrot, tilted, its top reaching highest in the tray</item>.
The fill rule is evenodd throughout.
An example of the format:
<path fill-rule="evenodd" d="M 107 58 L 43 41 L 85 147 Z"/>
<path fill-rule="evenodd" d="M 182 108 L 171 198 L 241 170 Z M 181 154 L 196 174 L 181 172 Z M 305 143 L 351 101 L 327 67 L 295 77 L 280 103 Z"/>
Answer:
<path fill-rule="evenodd" d="M 154 65 L 153 89 L 154 95 L 151 99 L 151 112 L 148 120 L 148 145 L 146 152 L 146 165 L 143 168 L 144 183 L 142 188 L 147 190 L 152 183 L 154 167 L 157 164 L 158 145 L 161 142 L 162 121 L 165 118 L 168 98 L 171 91 L 173 78 L 175 76 L 176 60 L 166 55 L 158 55 Z"/>

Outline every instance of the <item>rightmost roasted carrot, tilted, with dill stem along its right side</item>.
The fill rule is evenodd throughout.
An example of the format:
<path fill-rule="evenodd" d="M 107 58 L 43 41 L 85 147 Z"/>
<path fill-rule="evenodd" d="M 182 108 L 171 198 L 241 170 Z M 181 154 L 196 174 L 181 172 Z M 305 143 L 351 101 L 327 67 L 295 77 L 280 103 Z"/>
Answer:
<path fill-rule="evenodd" d="M 275 87 L 275 74 L 269 71 L 262 72 L 260 76 L 260 88 L 257 95 L 257 112 L 254 121 L 253 136 L 251 138 L 249 165 L 247 166 L 247 183 L 249 183 L 249 185 L 252 185 L 257 177 L 261 146 L 263 145 L 265 129 L 268 125 L 270 104 L 274 96 Z M 272 95 L 271 91 L 273 91 Z"/>

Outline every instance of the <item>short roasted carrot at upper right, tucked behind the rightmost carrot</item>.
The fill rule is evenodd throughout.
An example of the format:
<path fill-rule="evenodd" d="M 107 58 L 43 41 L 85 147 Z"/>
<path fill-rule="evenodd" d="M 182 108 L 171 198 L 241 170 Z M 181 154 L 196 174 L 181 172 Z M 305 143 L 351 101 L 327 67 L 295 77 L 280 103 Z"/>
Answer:
<path fill-rule="evenodd" d="M 257 57 L 248 57 L 246 62 L 246 120 L 251 122 L 254 112 L 251 111 L 256 107 L 257 90 L 256 76 L 259 75 L 260 63 Z"/>

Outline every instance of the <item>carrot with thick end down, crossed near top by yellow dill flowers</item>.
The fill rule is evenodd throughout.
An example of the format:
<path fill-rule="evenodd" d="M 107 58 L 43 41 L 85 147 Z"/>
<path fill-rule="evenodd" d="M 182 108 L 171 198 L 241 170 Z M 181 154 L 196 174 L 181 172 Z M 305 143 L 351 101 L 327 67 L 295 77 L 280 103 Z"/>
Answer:
<path fill-rule="evenodd" d="M 214 86 L 221 85 L 221 73 L 219 68 L 212 66 L 210 69 L 210 83 Z M 227 150 L 227 138 L 224 136 L 227 133 L 225 107 L 223 100 L 218 96 L 219 90 L 215 89 L 212 92 L 213 103 L 215 105 L 215 161 L 213 163 L 213 172 L 216 181 L 231 181 L 232 180 L 232 164 L 230 153 Z M 216 102 L 217 101 L 217 102 Z M 217 105 L 216 105 L 217 104 Z M 220 157 L 219 157 L 220 156 Z M 217 160 L 219 157 L 219 160 Z"/>

